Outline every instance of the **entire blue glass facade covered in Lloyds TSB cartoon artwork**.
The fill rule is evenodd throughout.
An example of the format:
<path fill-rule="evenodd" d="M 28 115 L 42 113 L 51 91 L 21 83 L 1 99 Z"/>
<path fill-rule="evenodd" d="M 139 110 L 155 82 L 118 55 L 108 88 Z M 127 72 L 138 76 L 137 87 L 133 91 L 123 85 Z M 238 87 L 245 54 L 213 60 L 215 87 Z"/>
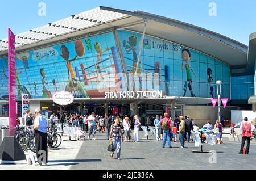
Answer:
<path fill-rule="evenodd" d="M 162 90 L 168 96 L 217 97 L 215 82 L 223 82 L 222 97 L 230 98 L 230 67 L 196 50 L 145 36 L 137 66 L 141 34 L 118 31 L 127 73 L 138 67 L 136 90 Z M 100 98 L 105 91 L 127 91 L 113 32 L 90 36 L 16 55 L 16 96 L 51 98 L 67 90 L 75 98 Z M 0 100 L 8 99 L 7 58 L 0 59 Z M 148 81 L 148 80 L 151 80 Z M 150 83 L 148 83 L 150 82 Z M 123 82 L 122 82 L 123 83 Z M 129 85 L 131 81 L 128 82 Z"/>

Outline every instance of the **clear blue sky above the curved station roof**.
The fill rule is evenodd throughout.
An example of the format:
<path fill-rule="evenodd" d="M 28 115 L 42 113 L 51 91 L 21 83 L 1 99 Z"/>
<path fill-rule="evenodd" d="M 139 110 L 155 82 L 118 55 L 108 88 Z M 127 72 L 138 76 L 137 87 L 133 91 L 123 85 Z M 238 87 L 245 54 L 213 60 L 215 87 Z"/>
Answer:
<path fill-rule="evenodd" d="M 46 5 L 46 16 L 38 15 L 41 2 Z M 216 4 L 216 16 L 209 15 L 211 2 Z M 98 6 L 166 16 L 220 33 L 245 45 L 249 44 L 250 33 L 256 32 L 255 0 L 2 0 L 0 4 L 0 40 L 7 37 L 9 27 L 18 34 Z"/>

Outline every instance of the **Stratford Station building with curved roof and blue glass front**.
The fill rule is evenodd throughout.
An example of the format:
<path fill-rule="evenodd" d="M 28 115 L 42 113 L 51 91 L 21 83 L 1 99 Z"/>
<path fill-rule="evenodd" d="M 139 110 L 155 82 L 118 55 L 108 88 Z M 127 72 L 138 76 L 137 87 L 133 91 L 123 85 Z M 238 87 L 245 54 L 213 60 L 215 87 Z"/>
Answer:
<path fill-rule="evenodd" d="M 256 110 L 255 37 L 250 35 L 247 47 L 192 24 L 102 6 L 71 15 L 16 35 L 18 113 L 25 93 L 32 112 L 40 107 L 49 113 L 145 117 L 167 111 L 203 124 L 217 119 L 210 98 L 217 98 L 220 80 L 221 98 L 229 99 L 221 114 L 230 119 L 230 110 Z M 8 116 L 7 63 L 5 39 L 0 42 L 0 117 Z M 54 104 L 56 91 L 71 92 L 74 102 Z"/>

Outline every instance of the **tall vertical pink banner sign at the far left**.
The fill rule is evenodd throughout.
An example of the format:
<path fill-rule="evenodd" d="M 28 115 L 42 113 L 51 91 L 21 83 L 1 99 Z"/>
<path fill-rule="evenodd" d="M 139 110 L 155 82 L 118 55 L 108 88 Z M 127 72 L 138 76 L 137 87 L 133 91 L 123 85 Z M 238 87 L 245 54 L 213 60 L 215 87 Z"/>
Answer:
<path fill-rule="evenodd" d="M 16 52 L 15 35 L 8 28 L 8 77 L 9 77 L 9 136 L 15 136 L 16 127 Z"/>

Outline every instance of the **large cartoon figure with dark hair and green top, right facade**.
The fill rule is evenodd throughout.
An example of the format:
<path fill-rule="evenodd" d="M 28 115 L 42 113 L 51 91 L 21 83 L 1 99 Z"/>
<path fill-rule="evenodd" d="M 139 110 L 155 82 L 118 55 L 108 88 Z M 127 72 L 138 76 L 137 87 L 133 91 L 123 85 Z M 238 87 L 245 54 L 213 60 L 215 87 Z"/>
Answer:
<path fill-rule="evenodd" d="M 183 97 L 186 95 L 187 88 L 189 88 L 189 91 L 190 91 L 190 93 L 191 93 L 191 96 L 192 96 L 192 97 L 196 97 L 195 94 L 194 94 L 193 91 L 192 91 L 192 76 L 191 76 L 191 71 L 192 71 L 193 74 L 195 75 L 195 78 L 196 78 L 196 74 L 195 74 L 195 72 L 193 71 L 193 69 L 191 68 L 191 66 L 189 65 L 189 61 L 191 61 L 191 53 L 189 52 L 188 49 L 183 49 L 183 50 L 182 50 L 182 58 L 183 58 L 183 61 L 186 62 L 186 64 L 185 64 L 184 66 L 183 66 L 183 63 L 181 64 L 181 71 L 183 71 L 184 68 L 185 68 L 186 71 L 187 71 L 187 82 L 185 83 L 184 88 L 183 88 L 183 90 L 185 91 Z"/>

